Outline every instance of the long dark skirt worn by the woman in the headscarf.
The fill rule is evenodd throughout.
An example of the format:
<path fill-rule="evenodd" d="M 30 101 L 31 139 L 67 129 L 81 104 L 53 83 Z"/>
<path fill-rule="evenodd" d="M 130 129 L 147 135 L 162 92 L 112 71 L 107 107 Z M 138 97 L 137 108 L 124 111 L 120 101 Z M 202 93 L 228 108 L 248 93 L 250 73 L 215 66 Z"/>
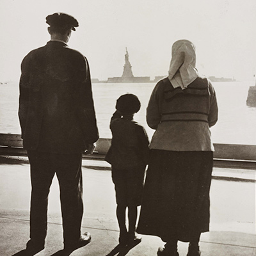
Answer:
<path fill-rule="evenodd" d="M 188 242 L 209 231 L 212 152 L 150 151 L 137 232 Z"/>

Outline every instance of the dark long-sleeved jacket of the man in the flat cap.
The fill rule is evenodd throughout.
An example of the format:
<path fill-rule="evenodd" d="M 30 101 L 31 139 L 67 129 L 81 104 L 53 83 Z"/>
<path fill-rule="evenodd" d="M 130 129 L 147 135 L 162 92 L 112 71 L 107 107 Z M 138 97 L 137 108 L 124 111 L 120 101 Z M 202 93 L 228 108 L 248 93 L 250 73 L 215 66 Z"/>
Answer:
<path fill-rule="evenodd" d="M 88 61 L 67 44 L 50 41 L 21 65 L 19 118 L 24 148 L 83 152 L 98 140 Z"/>

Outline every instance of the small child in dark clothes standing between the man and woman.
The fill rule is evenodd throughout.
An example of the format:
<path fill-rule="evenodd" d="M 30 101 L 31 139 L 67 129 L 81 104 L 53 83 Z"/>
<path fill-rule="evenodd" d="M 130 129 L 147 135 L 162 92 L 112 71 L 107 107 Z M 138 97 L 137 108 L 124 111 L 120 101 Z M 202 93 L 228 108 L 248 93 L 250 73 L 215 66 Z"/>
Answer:
<path fill-rule="evenodd" d="M 112 179 L 116 191 L 116 217 L 122 246 L 140 243 L 136 234 L 137 206 L 141 204 L 145 167 L 148 162 L 148 136 L 145 129 L 134 122 L 134 113 L 140 110 L 136 95 L 125 94 L 116 101 L 111 118 L 112 143 L 106 161 L 112 166 Z M 129 228 L 125 225 L 128 207 Z"/>

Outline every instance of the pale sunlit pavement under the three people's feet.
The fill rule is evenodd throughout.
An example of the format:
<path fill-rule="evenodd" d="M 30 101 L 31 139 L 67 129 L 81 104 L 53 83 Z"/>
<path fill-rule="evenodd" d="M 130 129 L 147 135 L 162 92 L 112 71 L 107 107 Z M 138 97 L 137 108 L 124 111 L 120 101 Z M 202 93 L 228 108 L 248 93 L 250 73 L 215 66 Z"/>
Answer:
<path fill-rule="evenodd" d="M 90 167 L 90 168 L 89 168 Z M 108 164 L 83 161 L 84 216 L 82 232 L 92 234 L 92 243 L 71 254 L 62 252 L 62 227 L 58 181 L 49 195 L 48 234 L 45 249 L 36 254 L 91 256 L 156 256 L 163 245 L 159 237 L 143 236 L 129 251 L 111 252 L 118 244 L 115 190 Z M 29 164 L 0 164 L 0 255 L 22 255 L 29 239 Z M 255 171 L 214 168 L 211 186 L 211 231 L 202 234 L 202 256 L 255 256 Z M 237 180 L 228 180 L 237 177 Z M 180 256 L 188 243 L 179 242 Z"/>

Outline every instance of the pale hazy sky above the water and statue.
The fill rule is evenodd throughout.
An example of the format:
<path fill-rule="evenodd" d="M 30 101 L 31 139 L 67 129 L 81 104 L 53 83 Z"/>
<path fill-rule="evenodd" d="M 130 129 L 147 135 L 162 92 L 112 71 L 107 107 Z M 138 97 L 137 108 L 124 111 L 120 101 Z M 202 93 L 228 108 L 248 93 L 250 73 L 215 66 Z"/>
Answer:
<path fill-rule="evenodd" d="M 205 76 L 256 72 L 255 0 L 1 0 L 0 82 L 19 79 L 22 58 L 49 40 L 54 12 L 79 21 L 68 45 L 88 58 L 93 78 L 122 76 L 125 47 L 134 76 L 164 76 L 179 39 L 195 44 Z"/>

